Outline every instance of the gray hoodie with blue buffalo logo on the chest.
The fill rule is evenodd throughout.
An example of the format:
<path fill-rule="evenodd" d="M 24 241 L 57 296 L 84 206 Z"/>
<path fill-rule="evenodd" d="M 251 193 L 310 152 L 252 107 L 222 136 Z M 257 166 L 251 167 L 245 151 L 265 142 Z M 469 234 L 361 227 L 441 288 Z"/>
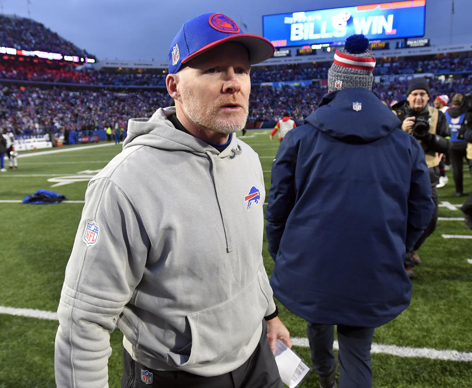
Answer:
<path fill-rule="evenodd" d="M 116 326 L 149 368 L 229 372 L 275 310 L 258 155 L 236 136 L 218 152 L 175 129 L 174 112 L 131 119 L 89 182 L 58 308 L 58 387 L 108 387 Z"/>

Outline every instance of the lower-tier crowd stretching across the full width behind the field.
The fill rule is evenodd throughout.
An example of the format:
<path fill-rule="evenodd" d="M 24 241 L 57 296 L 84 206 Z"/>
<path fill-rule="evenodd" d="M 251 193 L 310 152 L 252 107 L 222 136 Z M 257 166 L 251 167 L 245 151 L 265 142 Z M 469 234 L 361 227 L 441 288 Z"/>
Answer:
<path fill-rule="evenodd" d="M 18 74 L 21 74 L 21 71 Z M 373 89 L 381 95 L 383 101 L 391 105 L 405 99 L 407 84 L 406 80 L 380 82 L 375 83 Z M 447 82 L 431 80 L 430 84 L 433 96 L 445 94 L 452 98 L 454 93 L 471 91 L 469 78 Z M 308 86 L 284 85 L 280 89 L 255 86 L 251 92 L 248 121 L 271 122 L 288 110 L 299 125 L 318 108 L 317 103 L 326 91 L 327 89 L 318 82 Z M 432 100 L 433 98 L 431 103 Z M 54 125 L 57 132 L 63 128 L 75 131 L 83 123 L 93 123 L 96 129 L 118 123 L 126 129 L 130 117 L 150 117 L 156 107 L 166 106 L 169 101 L 167 91 L 157 88 L 129 91 L 126 88 L 110 90 L 106 87 L 95 87 L 79 90 L 54 83 L 0 83 L 0 128 L 11 129 L 17 135 L 42 133 L 50 125 Z"/>

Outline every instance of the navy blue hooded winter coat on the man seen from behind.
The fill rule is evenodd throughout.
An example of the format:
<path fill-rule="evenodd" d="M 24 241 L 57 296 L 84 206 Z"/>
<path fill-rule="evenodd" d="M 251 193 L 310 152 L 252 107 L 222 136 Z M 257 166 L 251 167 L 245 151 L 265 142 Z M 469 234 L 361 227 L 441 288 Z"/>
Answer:
<path fill-rule="evenodd" d="M 270 284 L 310 322 L 378 327 L 410 304 L 403 259 L 434 203 L 423 149 L 399 124 L 372 91 L 349 88 L 326 94 L 280 144 Z"/>

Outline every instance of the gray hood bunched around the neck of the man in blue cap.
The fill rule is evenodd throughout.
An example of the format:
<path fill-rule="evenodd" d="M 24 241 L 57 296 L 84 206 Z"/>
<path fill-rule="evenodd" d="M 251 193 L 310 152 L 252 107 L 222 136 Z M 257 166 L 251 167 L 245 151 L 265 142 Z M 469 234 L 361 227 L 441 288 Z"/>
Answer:
<path fill-rule="evenodd" d="M 225 158 L 241 152 L 241 145 L 236 136 L 232 136 L 231 142 L 222 152 L 208 144 L 206 141 L 196 138 L 183 131 L 177 130 L 168 117 L 176 112 L 175 107 L 159 108 L 151 118 L 132 118 L 128 121 L 126 139 L 123 141 L 123 149 L 136 145 L 189 151 L 196 154 Z"/>

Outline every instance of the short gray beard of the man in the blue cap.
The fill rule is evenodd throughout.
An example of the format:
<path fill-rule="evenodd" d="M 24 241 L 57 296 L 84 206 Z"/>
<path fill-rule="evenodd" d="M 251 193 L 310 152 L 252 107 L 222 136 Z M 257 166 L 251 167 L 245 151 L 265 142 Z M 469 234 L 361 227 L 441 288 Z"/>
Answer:
<path fill-rule="evenodd" d="M 232 120 L 228 121 L 219 119 L 217 116 L 218 108 L 210 107 L 210 111 L 204 111 L 200 101 L 195 98 L 189 89 L 184 88 L 183 94 L 185 98 L 185 103 L 182 104 L 183 111 L 195 124 L 221 134 L 232 134 L 241 131 L 246 126 L 247 116 L 249 113 L 247 108 L 244 122 L 239 124 Z M 235 116 L 237 117 L 238 114 Z"/>

